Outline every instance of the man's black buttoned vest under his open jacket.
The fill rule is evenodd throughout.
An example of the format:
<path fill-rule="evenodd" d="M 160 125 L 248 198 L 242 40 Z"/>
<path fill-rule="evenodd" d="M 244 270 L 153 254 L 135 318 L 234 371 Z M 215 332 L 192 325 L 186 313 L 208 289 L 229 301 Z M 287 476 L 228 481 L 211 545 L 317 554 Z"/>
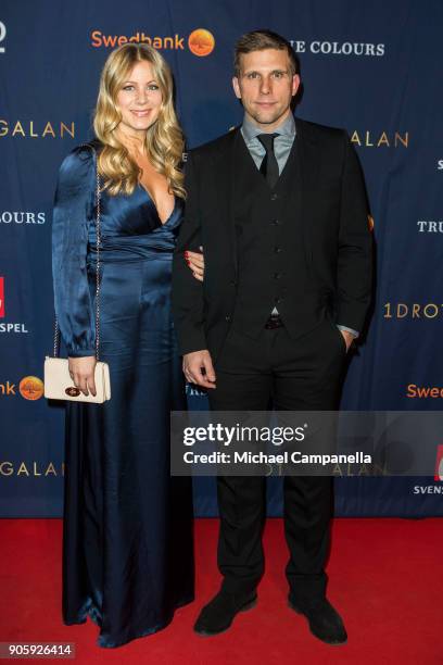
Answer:
<path fill-rule="evenodd" d="M 242 136 L 235 163 L 238 292 L 232 324 L 256 338 L 276 306 L 290 335 L 300 336 L 324 318 L 325 297 L 306 256 L 296 138 L 274 189 Z"/>

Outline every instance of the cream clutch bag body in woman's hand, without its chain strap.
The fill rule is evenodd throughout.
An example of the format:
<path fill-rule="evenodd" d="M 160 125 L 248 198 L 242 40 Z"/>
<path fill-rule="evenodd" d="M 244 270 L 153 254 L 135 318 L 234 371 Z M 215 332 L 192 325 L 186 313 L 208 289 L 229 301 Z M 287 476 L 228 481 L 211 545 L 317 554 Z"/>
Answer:
<path fill-rule="evenodd" d="M 49 357 L 47 355 L 45 360 L 45 397 L 48 400 L 103 404 L 111 399 L 110 366 L 107 363 L 99 361 L 96 364 L 96 397 L 91 392 L 86 396 L 74 386 L 67 365 L 68 360 L 65 357 Z"/>

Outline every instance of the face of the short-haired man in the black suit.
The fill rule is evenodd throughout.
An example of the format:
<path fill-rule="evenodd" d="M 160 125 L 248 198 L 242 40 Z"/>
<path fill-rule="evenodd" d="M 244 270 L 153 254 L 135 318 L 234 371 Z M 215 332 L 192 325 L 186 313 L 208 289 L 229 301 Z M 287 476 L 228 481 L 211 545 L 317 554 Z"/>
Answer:
<path fill-rule="evenodd" d="M 300 76 L 292 75 L 286 51 L 265 49 L 240 55 L 240 75 L 232 78 L 232 86 L 246 117 L 273 131 L 291 113 Z"/>

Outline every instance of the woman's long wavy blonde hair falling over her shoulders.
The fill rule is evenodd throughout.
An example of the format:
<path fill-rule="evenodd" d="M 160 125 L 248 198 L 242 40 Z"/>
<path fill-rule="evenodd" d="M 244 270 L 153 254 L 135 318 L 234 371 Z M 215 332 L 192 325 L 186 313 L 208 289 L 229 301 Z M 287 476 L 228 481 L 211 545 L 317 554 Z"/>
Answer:
<path fill-rule="evenodd" d="M 164 58 L 147 43 L 124 43 L 115 49 L 104 63 L 101 74 L 93 128 L 103 145 L 98 164 L 103 189 L 112 196 L 131 195 L 139 183 L 140 168 L 118 140 L 115 129 L 122 120 L 117 95 L 134 66 L 142 61 L 152 65 L 162 92 L 159 117 L 147 130 L 145 151 L 155 171 L 166 177 L 169 191 L 185 199 L 183 174 L 180 170 L 185 141 L 174 109 L 173 75 Z"/>

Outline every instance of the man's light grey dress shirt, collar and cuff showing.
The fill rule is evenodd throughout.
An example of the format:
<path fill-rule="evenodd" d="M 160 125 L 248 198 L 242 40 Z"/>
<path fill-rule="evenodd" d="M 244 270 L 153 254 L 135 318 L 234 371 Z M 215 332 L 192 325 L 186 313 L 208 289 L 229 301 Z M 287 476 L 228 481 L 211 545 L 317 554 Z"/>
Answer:
<path fill-rule="evenodd" d="M 246 143 L 246 148 L 254 160 L 255 166 L 260 168 L 266 154 L 266 150 L 257 139 L 257 136 L 260 134 L 266 134 L 266 131 L 256 125 L 253 125 L 245 116 L 243 117 L 243 124 L 240 131 L 244 142 Z M 294 142 L 296 135 L 295 121 L 292 113 L 288 115 L 288 117 L 277 127 L 277 129 L 273 129 L 273 131 L 269 134 L 277 134 L 276 138 L 274 139 L 274 154 L 276 155 L 278 172 L 280 175 L 284 168 L 284 164 L 288 161 L 289 153 L 291 152 L 292 143 Z M 277 308 L 274 308 L 271 314 L 278 314 Z M 352 328 L 347 328 L 346 326 L 342 326 L 340 324 L 338 324 L 338 328 L 340 328 L 340 330 L 347 330 L 347 332 L 351 332 L 351 335 L 354 337 L 358 337 L 357 330 L 353 330 Z"/>

